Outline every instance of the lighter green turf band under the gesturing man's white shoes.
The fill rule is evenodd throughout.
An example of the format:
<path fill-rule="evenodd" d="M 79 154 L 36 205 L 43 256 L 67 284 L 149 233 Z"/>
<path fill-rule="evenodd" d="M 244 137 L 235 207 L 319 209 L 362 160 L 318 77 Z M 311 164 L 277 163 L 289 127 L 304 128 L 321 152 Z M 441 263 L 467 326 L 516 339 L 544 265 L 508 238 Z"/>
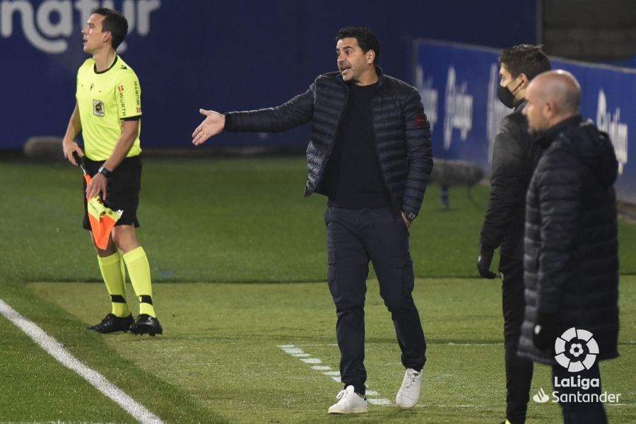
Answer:
<path fill-rule="evenodd" d="M 622 356 L 601 364 L 604 389 L 624 399 L 621 406 L 608 406 L 612 423 L 636 419 L 636 306 L 629 301 L 636 297 L 636 277 L 624 277 L 622 283 Z M 368 285 L 367 385 L 393 401 L 404 370 L 377 282 Z M 105 301 L 103 288 L 95 283 L 30 283 L 29 289 L 85 323 L 99 319 Z M 165 334 L 151 343 L 129 334 L 102 337 L 122 358 L 175 384 L 196 404 L 232 423 L 338 420 L 325 411 L 339 384 L 277 347 L 293 344 L 337 370 L 334 307 L 325 283 L 163 283 L 155 293 L 158 310 L 167 312 L 161 316 Z M 487 423 L 501 418 L 499 296 L 496 282 L 419 279 L 415 297 L 428 336 L 422 401 L 411 413 L 371 406 L 372 413 L 356 420 Z M 534 392 L 549 389 L 547 367 L 537 367 L 532 387 Z M 558 406 L 531 402 L 527 422 L 552 423 L 559 414 Z"/>

